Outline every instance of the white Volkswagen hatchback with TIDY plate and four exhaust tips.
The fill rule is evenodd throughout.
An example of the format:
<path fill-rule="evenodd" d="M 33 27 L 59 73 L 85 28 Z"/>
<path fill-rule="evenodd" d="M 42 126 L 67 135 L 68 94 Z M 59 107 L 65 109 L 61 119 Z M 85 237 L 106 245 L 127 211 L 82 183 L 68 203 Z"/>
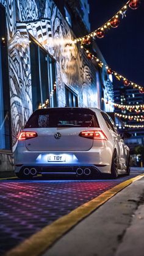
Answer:
<path fill-rule="evenodd" d="M 15 174 L 129 175 L 129 148 L 106 112 L 96 108 L 37 109 L 18 137 Z"/>

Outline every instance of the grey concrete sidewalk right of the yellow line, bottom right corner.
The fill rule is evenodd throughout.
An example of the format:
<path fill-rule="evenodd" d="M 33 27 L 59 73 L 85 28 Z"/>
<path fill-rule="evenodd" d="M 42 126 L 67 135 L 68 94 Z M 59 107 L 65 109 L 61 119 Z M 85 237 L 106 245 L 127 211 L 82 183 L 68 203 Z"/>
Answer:
<path fill-rule="evenodd" d="M 143 256 L 144 178 L 58 240 L 43 256 Z"/>

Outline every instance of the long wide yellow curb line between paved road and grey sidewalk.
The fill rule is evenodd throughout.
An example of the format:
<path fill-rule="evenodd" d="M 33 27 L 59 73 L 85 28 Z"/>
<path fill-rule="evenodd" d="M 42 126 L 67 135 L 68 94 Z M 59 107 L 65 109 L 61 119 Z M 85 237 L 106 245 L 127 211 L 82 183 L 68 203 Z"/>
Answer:
<path fill-rule="evenodd" d="M 137 177 L 126 180 L 114 188 L 109 189 L 109 191 L 95 197 L 95 199 L 84 203 L 84 205 L 81 205 L 67 215 L 57 219 L 56 221 L 52 222 L 52 224 L 44 227 L 39 232 L 32 235 L 19 246 L 16 246 L 14 249 L 7 252 L 5 256 L 38 256 L 42 254 L 46 251 L 46 249 L 48 249 L 49 246 L 52 245 L 52 243 L 74 227 L 74 225 L 87 217 L 90 213 L 95 211 L 98 207 L 103 205 L 103 203 L 107 202 L 107 200 L 115 196 L 115 194 L 120 192 L 122 189 L 126 188 L 126 186 L 129 186 L 132 182 L 140 180 L 140 178 L 143 177 L 144 174 L 141 174 Z"/>

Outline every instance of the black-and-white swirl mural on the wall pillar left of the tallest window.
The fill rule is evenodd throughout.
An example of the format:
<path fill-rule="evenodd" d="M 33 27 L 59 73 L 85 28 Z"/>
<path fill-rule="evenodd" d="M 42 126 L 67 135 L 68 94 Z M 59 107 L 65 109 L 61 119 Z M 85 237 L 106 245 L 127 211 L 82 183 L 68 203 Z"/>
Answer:
<path fill-rule="evenodd" d="M 21 29 L 23 28 L 23 32 Z M 29 36 L 26 26 L 17 26 L 9 42 L 10 105 L 12 116 L 13 151 L 17 136 L 32 114 L 31 70 L 29 60 Z"/>

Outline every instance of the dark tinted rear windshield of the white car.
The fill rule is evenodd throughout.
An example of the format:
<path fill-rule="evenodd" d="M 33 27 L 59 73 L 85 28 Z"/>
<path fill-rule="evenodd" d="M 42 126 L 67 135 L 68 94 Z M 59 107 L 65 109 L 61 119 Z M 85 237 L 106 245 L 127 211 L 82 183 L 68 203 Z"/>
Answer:
<path fill-rule="evenodd" d="M 91 109 L 38 109 L 24 128 L 48 127 L 99 127 L 95 112 Z"/>

